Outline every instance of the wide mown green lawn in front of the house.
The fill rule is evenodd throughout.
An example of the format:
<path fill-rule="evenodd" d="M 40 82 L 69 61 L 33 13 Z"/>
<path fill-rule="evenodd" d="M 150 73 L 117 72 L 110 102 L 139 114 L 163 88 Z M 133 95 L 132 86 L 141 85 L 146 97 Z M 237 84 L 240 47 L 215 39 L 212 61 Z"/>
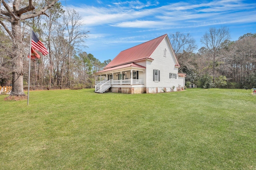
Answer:
<path fill-rule="evenodd" d="M 256 170 L 256 95 L 30 91 L 0 95 L 0 169 Z"/>

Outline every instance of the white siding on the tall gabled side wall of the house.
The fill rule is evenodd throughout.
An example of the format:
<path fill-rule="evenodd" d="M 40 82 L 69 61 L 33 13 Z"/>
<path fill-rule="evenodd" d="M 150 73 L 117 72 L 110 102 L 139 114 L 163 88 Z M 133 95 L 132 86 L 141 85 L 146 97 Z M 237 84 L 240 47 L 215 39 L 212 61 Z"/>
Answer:
<path fill-rule="evenodd" d="M 146 87 L 178 87 L 178 68 L 175 67 L 175 59 L 171 52 L 171 47 L 168 44 L 168 39 L 165 38 L 158 45 L 156 50 L 150 56 L 154 61 L 146 63 Z M 164 49 L 166 49 L 166 57 L 164 57 Z M 160 70 L 160 81 L 153 81 L 153 70 Z M 177 78 L 169 78 L 169 73 L 177 74 Z"/>

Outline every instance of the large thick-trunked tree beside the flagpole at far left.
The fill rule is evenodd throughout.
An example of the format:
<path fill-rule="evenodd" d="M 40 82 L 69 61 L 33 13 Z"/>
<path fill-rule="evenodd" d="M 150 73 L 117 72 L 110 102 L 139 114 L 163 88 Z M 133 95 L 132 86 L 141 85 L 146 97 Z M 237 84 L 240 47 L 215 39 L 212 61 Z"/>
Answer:
<path fill-rule="evenodd" d="M 44 0 L 44 4 L 35 9 L 32 0 L 22 3 L 22 0 L 14 0 L 12 6 L 9 1 L 1 0 L 0 24 L 12 39 L 12 96 L 25 96 L 23 90 L 23 57 L 24 55 L 24 30 L 21 22 L 45 14 L 58 0 Z M 23 5 L 24 4 L 24 5 Z M 46 15 L 46 14 L 45 14 Z"/>

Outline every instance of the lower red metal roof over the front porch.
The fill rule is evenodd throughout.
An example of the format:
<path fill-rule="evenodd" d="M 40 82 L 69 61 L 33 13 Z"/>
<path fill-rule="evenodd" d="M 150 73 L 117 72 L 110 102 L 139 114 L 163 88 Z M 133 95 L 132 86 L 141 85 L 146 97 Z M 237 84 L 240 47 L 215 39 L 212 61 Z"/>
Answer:
<path fill-rule="evenodd" d="M 105 70 L 101 70 L 99 72 L 96 72 L 94 73 L 95 75 L 101 75 L 102 73 L 111 73 L 111 72 L 114 72 L 114 71 L 117 71 L 117 72 L 120 72 L 122 70 L 128 70 L 128 69 L 137 69 L 137 70 L 145 70 L 146 67 L 144 66 L 141 66 L 139 64 L 136 64 L 136 63 L 129 63 L 129 64 L 124 64 L 124 65 L 121 65 L 121 66 L 116 66 L 116 67 L 112 67 L 112 68 L 107 68 Z"/>

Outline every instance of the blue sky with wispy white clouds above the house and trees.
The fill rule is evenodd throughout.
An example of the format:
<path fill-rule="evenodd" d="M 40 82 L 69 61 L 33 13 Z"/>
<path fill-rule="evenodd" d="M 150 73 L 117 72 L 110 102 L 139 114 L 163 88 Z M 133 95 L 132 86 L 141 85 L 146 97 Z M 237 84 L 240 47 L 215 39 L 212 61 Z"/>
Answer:
<path fill-rule="evenodd" d="M 164 34 L 190 33 L 198 49 L 210 27 L 226 26 L 231 40 L 256 33 L 255 0 L 61 0 L 90 31 L 83 49 L 101 62 Z M 197 51 L 196 51 L 197 52 Z"/>

